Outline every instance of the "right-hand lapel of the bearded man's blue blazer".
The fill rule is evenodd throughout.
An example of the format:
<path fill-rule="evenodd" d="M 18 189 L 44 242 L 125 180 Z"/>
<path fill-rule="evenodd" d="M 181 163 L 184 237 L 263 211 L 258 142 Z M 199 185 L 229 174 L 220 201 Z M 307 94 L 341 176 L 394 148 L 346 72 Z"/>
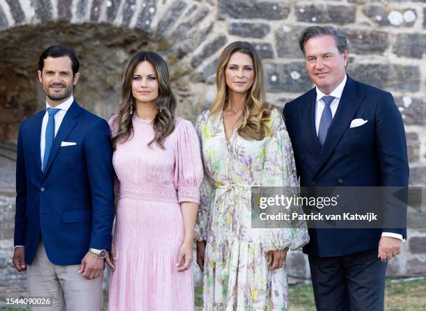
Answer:
<path fill-rule="evenodd" d="M 53 141 L 52 149 L 50 150 L 49 154 L 49 159 L 47 159 L 44 176 L 49 171 L 50 166 L 52 166 L 56 154 L 58 153 L 59 148 L 61 147 L 62 141 L 65 141 L 68 134 L 70 134 L 70 131 L 77 124 L 77 120 L 75 119 L 79 116 L 80 109 L 81 108 L 79 104 L 77 104 L 77 102 L 74 100 L 74 102 L 72 102 L 70 106 L 70 109 L 68 109 L 67 113 L 65 113 L 65 117 L 63 118 L 61 126 L 58 129 L 58 133 L 56 134 L 55 139 Z"/>

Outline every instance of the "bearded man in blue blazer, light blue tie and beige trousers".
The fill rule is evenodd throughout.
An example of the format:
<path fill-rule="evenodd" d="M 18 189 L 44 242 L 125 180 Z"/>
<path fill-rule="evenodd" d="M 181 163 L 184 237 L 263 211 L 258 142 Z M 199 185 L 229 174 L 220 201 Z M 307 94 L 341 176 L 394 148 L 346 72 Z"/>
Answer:
<path fill-rule="evenodd" d="M 40 56 L 46 109 L 19 127 L 15 253 L 30 296 L 49 310 L 102 310 L 104 257 L 111 248 L 113 166 L 108 123 L 72 96 L 79 61 L 64 45 Z"/>

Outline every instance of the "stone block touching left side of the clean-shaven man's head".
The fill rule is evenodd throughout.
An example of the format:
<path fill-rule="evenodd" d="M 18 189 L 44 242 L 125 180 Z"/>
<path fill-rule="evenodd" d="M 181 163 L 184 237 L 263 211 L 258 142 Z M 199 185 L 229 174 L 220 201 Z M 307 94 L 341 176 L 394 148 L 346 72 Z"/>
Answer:
<path fill-rule="evenodd" d="M 279 57 L 303 58 L 299 38 L 304 28 L 283 25 L 275 31 L 276 54 Z"/>

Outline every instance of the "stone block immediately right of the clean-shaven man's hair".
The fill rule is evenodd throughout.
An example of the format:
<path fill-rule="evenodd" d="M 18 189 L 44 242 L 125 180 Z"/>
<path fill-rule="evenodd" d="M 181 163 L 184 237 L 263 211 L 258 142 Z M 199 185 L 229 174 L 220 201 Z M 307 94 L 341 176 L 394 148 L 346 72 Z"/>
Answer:
<path fill-rule="evenodd" d="M 358 29 L 345 30 L 349 51 L 354 54 L 382 54 L 389 45 L 388 33 Z"/>

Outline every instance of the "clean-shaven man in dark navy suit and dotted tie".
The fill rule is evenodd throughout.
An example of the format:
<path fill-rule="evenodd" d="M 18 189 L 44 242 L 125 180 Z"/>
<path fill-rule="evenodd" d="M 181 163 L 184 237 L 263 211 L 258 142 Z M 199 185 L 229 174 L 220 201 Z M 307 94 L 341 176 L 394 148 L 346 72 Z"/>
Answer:
<path fill-rule="evenodd" d="M 392 95 L 347 76 L 345 33 L 312 26 L 300 47 L 315 88 L 284 108 L 301 186 L 407 186 L 404 125 Z M 386 262 L 405 229 L 310 229 L 317 310 L 383 310 Z"/>

